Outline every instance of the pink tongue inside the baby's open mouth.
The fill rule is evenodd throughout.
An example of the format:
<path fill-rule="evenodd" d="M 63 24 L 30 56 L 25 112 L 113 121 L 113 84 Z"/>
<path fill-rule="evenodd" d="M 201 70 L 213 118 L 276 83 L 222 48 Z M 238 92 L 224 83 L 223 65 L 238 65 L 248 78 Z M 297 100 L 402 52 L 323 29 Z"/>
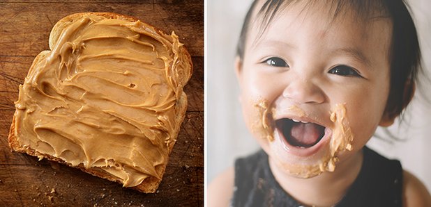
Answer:
<path fill-rule="evenodd" d="M 299 147 L 312 147 L 324 133 L 324 127 L 318 124 L 312 123 L 295 123 L 290 131 L 290 137 L 292 138 L 292 144 Z"/>

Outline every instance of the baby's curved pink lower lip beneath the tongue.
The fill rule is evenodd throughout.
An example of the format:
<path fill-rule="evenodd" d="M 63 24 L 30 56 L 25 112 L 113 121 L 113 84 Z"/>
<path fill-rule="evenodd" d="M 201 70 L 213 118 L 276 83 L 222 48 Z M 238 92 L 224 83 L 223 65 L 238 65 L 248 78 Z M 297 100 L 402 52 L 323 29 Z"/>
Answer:
<path fill-rule="evenodd" d="M 313 154 L 316 154 L 317 151 L 322 149 L 324 144 L 328 142 L 328 140 L 330 140 L 332 136 L 331 129 L 326 127 L 324 136 L 322 137 L 322 139 L 319 140 L 319 142 L 317 142 L 311 147 L 296 147 L 296 146 L 293 146 L 292 144 L 289 144 L 289 142 L 287 142 L 287 140 L 284 138 L 284 135 L 279 129 L 275 129 L 275 133 L 277 133 L 277 137 L 280 143 L 282 144 L 282 148 L 288 154 L 293 154 L 295 156 L 300 156 L 300 157 L 309 157 L 309 156 L 312 156 Z"/>

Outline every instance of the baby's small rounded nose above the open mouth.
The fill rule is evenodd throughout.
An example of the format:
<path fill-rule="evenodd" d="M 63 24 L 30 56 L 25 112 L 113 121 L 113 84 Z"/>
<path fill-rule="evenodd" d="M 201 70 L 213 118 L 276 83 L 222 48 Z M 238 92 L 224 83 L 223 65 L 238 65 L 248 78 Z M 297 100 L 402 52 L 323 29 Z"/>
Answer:
<path fill-rule="evenodd" d="M 296 104 L 321 104 L 325 101 L 322 89 L 311 80 L 302 78 L 291 81 L 282 96 L 292 99 Z"/>

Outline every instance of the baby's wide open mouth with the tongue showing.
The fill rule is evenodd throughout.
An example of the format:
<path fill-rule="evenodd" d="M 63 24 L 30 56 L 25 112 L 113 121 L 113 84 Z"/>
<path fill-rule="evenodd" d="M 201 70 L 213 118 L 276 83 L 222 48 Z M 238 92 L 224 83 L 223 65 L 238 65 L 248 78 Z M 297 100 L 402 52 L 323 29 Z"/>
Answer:
<path fill-rule="evenodd" d="M 294 147 L 308 148 L 317 144 L 325 135 L 325 127 L 294 119 L 277 119 L 275 125 L 285 140 Z"/>

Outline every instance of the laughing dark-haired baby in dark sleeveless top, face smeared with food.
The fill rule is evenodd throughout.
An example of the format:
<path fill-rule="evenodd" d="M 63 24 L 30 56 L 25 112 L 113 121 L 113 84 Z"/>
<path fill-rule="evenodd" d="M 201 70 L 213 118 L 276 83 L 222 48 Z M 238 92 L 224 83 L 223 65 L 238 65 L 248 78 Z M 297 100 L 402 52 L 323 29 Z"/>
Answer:
<path fill-rule="evenodd" d="M 209 206 L 431 206 L 423 183 L 365 147 L 415 90 L 421 54 L 402 0 L 257 0 L 236 74 L 263 151 L 209 186 Z"/>

